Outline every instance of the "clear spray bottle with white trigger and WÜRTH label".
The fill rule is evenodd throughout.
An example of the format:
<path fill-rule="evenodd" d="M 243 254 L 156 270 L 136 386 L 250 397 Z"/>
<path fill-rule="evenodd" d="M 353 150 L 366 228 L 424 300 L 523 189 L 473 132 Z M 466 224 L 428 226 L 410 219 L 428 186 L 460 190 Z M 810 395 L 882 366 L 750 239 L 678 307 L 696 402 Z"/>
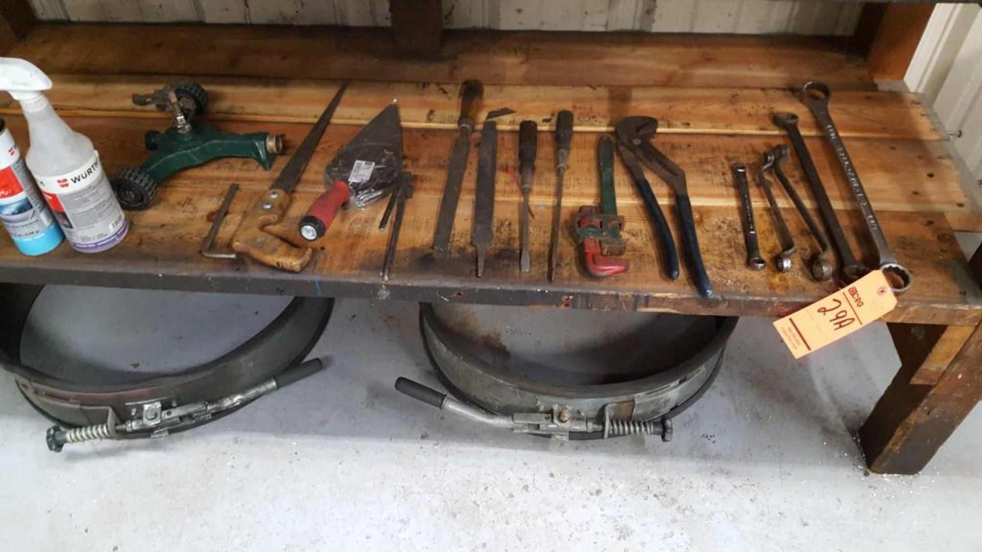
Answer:
<path fill-rule="evenodd" d="M 0 90 L 21 102 L 30 148 L 27 168 L 54 212 L 69 245 L 82 252 L 112 248 L 129 224 L 92 141 L 55 113 L 41 90 L 51 80 L 22 59 L 0 58 Z"/>

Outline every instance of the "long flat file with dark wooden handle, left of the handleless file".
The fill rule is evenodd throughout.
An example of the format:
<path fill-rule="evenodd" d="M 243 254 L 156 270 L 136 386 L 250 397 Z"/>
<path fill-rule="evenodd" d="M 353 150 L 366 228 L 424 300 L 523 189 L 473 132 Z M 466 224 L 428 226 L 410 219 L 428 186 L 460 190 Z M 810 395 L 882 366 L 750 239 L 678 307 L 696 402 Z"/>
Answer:
<path fill-rule="evenodd" d="M 447 168 L 447 183 L 440 199 L 440 212 L 436 218 L 436 231 L 433 233 L 433 250 L 445 251 L 450 247 L 450 235 L 454 230 L 454 217 L 457 203 L 461 198 L 461 185 L 467 168 L 467 155 L 470 152 L 470 134 L 474 132 L 477 112 L 481 109 L 481 96 L 484 85 L 480 81 L 464 81 L 461 84 L 461 116 L 457 119 L 460 135 L 450 152 L 450 165 Z"/>

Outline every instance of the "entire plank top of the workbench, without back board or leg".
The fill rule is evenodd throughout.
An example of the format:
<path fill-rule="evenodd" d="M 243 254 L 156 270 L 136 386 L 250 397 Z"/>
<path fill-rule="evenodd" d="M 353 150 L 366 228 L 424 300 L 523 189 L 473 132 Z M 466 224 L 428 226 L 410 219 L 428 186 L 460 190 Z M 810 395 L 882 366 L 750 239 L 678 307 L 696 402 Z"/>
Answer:
<path fill-rule="evenodd" d="M 50 48 L 50 39 L 45 35 L 43 48 L 38 46 L 33 51 L 28 40 L 21 47 L 26 48 L 24 55 L 30 59 L 32 52 L 48 52 L 45 55 L 50 57 L 46 49 Z M 851 65 L 847 69 L 854 70 Z M 52 75 L 52 102 L 74 129 L 93 140 L 110 174 L 125 166 L 139 165 L 146 154 L 143 134 L 147 130 L 163 130 L 168 123 L 165 115 L 133 106 L 130 95 L 176 78 L 92 75 L 75 66 L 67 71 L 74 74 Z M 201 123 L 207 121 L 232 132 L 283 133 L 288 155 L 338 85 L 330 80 L 206 76 L 196 80 L 212 95 L 211 112 Z M 849 87 L 852 89 L 845 85 L 843 90 L 834 88 L 833 117 L 892 248 L 900 262 L 914 273 L 910 291 L 900 297 L 899 306 L 888 319 L 976 323 L 982 319 L 982 291 L 955 243 L 952 227 L 953 221 L 963 225 L 974 220 L 974 215 L 945 142 L 916 96 L 874 92 L 861 85 Z M 807 108 L 781 87 L 488 84 L 484 111 L 508 107 L 516 113 L 498 120 L 503 132 L 498 142 L 495 239 L 485 277 L 477 279 L 473 277 L 474 251 L 469 245 L 476 154 L 468 159 L 452 248 L 444 256 L 430 250 L 449 152 L 457 137 L 457 84 L 355 82 L 294 194 L 289 211 L 291 222 L 296 222 L 310 201 L 324 190 L 322 170 L 334 153 L 354 136 L 358 125 L 392 99 L 400 103 L 405 164 L 415 176 L 415 193 L 407 203 L 389 282 L 383 282 L 379 275 L 388 236 L 377 230 L 384 202 L 344 212 L 318 244 L 311 264 L 300 274 L 248 260 L 206 259 L 198 253 L 228 185 L 238 183 L 242 189 L 219 234 L 218 244 L 224 248 L 246 206 L 268 187 L 285 164 L 286 156 L 277 159 L 271 172 L 263 171 L 254 161 L 223 159 L 175 175 L 163 185 L 150 209 L 129 213 L 129 237 L 103 253 L 87 255 L 62 246 L 31 258 L 19 254 L 4 237 L 0 239 L 0 281 L 782 315 L 824 297 L 836 287 L 808 277 L 806 261 L 816 246 L 780 187 L 777 194 L 798 246 L 794 267 L 789 273 L 778 273 L 772 266 L 756 272 L 744 265 L 738 198 L 730 164 L 756 164 L 765 148 L 786 142 L 768 120 L 769 113 L 780 110 L 800 116 L 802 133 L 854 250 L 869 256 L 873 249 L 834 154 L 817 137 L 818 129 Z M 555 112 L 564 108 L 575 113 L 577 132 L 564 193 L 564 232 L 557 277 L 550 284 L 546 265 L 556 182 L 551 121 Z M 26 126 L 17 108 L 0 101 L 0 114 L 22 147 L 26 146 Z M 620 163 L 616 164 L 615 178 L 619 208 L 627 218 L 630 271 L 595 280 L 586 276 L 580 266 L 569 229 L 578 207 L 595 203 L 599 197 L 597 138 L 600 133 L 609 132 L 621 117 L 636 114 L 659 119 L 661 129 L 656 145 L 686 171 L 702 253 L 719 300 L 698 297 L 684 264 L 678 281 L 665 276 L 649 217 Z M 536 120 L 540 129 L 531 196 L 532 270 L 527 274 L 518 270 L 520 193 L 514 174 L 509 171 L 518 165 L 515 130 L 525 118 Z M 472 137 L 475 146 L 477 135 Z M 806 202 L 814 205 L 796 159 L 788 163 L 787 171 Z M 654 175 L 649 175 L 649 180 L 678 241 L 680 227 L 674 194 Z M 778 252 L 777 239 L 763 194 L 753 188 L 761 248 L 770 259 Z"/>

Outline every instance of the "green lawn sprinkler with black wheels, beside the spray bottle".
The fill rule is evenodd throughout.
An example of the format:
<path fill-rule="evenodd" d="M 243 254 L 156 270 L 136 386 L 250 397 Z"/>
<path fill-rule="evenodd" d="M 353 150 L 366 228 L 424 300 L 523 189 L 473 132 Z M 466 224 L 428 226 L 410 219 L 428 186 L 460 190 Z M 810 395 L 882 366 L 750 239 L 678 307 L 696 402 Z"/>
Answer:
<path fill-rule="evenodd" d="M 160 184 L 180 170 L 219 157 L 250 157 L 269 170 L 283 150 L 283 135 L 240 135 L 207 125 L 192 127 L 191 119 L 208 110 L 208 92 L 198 83 L 175 83 L 150 94 L 134 94 L 133 102 L 170 111 L 174 125 L 163 133 L 147 132 L 143 142 L 153 153 L 139 167 L 121 169 L 113 178 L 113 190 L 124 209 L 150 206 Z"/>

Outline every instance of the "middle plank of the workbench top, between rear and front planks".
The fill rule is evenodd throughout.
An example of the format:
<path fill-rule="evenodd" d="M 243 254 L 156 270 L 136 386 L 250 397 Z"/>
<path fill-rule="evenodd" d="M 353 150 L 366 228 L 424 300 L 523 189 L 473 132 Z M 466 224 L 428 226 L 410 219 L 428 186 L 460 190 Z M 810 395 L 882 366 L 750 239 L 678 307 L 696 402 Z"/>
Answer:
<path fill-rule="evenodd" d="M 146 157 L 143 147 L 143 134 L 150 129 L 163 130 L 166 123 L 155 125 L 152 121 L 123 117 L 69 117 L 73 129 L 92 138 L 96 147 L 104 152 L 103 162 L 109 174 L 117 170 L 138 166 Z M 9 118 L 8 125 L 21 143 L 27 143 L 27 129 L 21 118 Z M 309 130 L 309 125 L 299 123 L 253 123 L 223 121 L 217 128 L 230 132 L 254 133 L 270 132 L 285 135 L 286 153 L 292 153 Z M 328 128 L 317 150 L 310 160 L 310 169 L 301 178 L 301 188 L 316 190 L 323 187 L 323 175 L 315 167 L 324 167 L 334 154 L 349 139 L 355 136 L 359 127 L 335 124 Z M 443 191 L 446 178 L 448 156 L 455 131 L 406 129 L 404 130 L 405 164 L 407 170 L 416 175 L 416 194 L 438 196 Z M 597 134 L 576 133 L 570 154 L 570 171 L 567 173 L 564 201 L 582 204 L 596 201 L 599 186 L 596 180 L 595 147 Z M 478 137 L 472 138 L 476 146 Z M 806 138 L 812 152 L 816 168 L 821 175 L 833 204 L 837 208 L 850 210 L 854 199 L 849 192 L 842 170 L 839 169 L 835 154 L 821 138 Z M 712 135 L 666 135 L 656 138 L 654 143 L 672 157 L 686 170 L 689 194 L 694 205 L 736 207 L 737 196 L 734 188 L 730 164 L 736 161 L 754 164 L 760 152 L 775 144 L 782 143 L 779 137 L 757 136 L 712 136 Z M 879 210 L 919 211 L 919 212 L 970 212 L 964 192 L 958 184 L 958 174 L 951 157 L 941 142 L 895 139 L 852 139 L 846 142 L 853 162 L 873 204 Z M 518 166 L 518 138 L 514 132 L 503 132 L 499 139 L 498 159 L 502 167 L 500 178 L 504 181 L 505 169 Z M 535 185 L 531 197 L 533 201 L 549 203 L 553 197 L 553 168 L 555 167 L 555 146 L 552 133 L 539 133 L 539 153 Z M 471 155 L 467 172 L 464 175 L 462 196 L 472 198 L 476 177 L 476 155 Z M 199 183 L 215 181 L 219 183 L 239 182 L 257 187 L 268 186 L 286 157 L 277 159 L 272 173 L 263 171 L 252 161 L 242 159 L 220 159 L 171 177 L 168 184 Z M 911 166 L 916 166 L 912 170 Z M 799 193 L 806 203 L 813 205 L 810 193 L 803 185 L 803 175 L 796 161 L 787 165 L 791 180 L 798 184 Z M 619 203 L 640 204 L 640 197 L 632 193 L 627 171 L 617 163 L 615 176 L 618 185 L 625 192 L 618 197 Z M 649 177 L 659 200 L 671 204 L 674 199 L 669 187 L 655 178 Z M 899 186 L 902 184 L 902 186 Z M 500 186 L 498 197 L 517 198 L 517 187 Z M 791 201 L 784 193 L 777 193 L 783 206 L 791 207 Z M 762 193 L 754 191 L 755 203 L 765 204 Z"/>

